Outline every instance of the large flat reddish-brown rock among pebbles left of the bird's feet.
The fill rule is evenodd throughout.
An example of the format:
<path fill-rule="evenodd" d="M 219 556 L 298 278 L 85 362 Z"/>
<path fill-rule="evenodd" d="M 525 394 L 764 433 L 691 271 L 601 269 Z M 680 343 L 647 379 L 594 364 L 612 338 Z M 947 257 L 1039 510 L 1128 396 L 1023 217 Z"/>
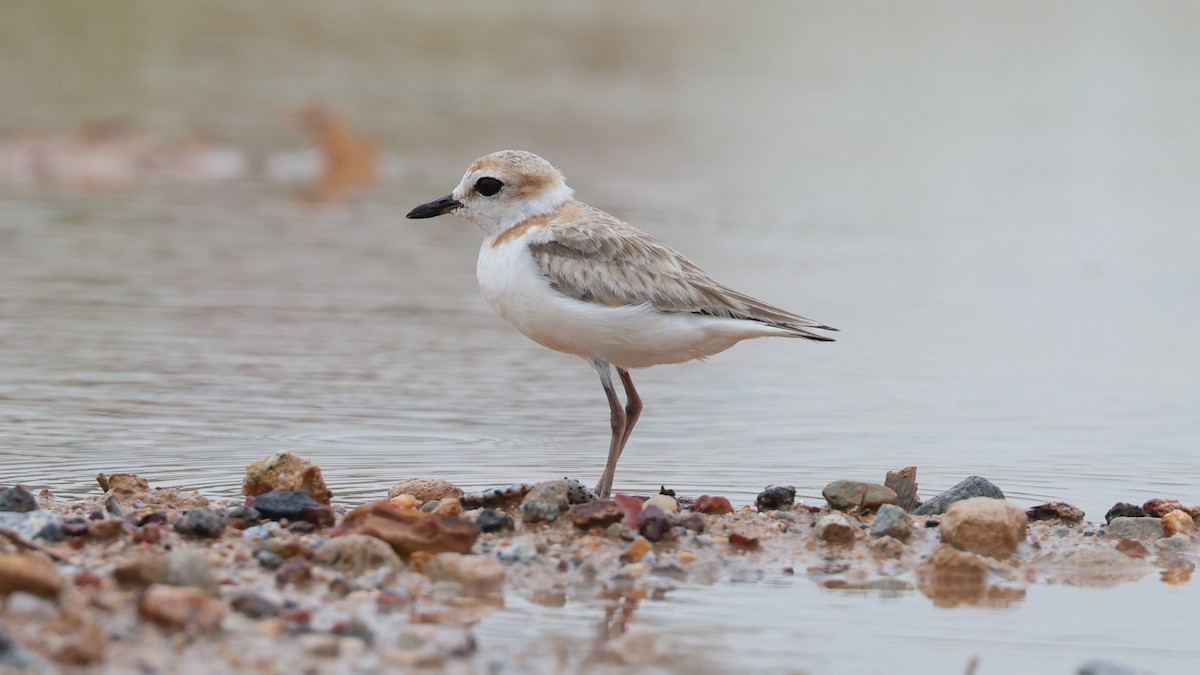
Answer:
<path fill-rule="evenodd" d="M 464 518 L 402 509 L 380 500 L 352 510 L 335 533 L 377 537 L 407 557 L 415 551 L 470 552 L 479 527 Z"/>

